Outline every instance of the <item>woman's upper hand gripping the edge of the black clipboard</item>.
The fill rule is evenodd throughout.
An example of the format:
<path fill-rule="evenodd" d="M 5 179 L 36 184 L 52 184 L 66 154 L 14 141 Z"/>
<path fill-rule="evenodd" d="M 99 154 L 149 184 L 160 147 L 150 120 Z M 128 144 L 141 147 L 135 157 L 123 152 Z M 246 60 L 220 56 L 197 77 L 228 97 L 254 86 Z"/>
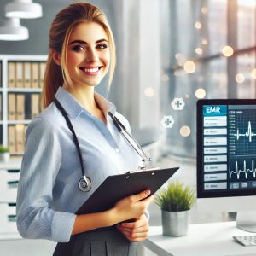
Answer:
<path fill-rule="evenodd" d="M 145 190 L 118 201 L 113 207 L 117 220 L 115 223 L 140 218 L 147 211 L 148 205 L 154 200 L 154 195 L 148 195 L 150 195 L 150 191 Z"/>

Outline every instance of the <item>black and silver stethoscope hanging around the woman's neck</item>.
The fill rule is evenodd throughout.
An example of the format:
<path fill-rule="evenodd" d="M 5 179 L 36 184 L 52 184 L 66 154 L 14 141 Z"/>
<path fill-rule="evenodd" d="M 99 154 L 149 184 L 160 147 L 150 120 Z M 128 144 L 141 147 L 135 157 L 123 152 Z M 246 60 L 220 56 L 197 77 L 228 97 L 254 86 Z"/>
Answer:
<path fill-rule="evenodd" d="M 65 108 L 61 106 L 61 103 L 55 98 L 54 100 L 56 107 L 61 111 L 63 117 L 66 119 L 68 129 L 72 132 L 73 134 L 73 142 L 75 143 L 75 146 L 77 148 L 78 154 L 79 154 L 79 161 L 80 161 L 80 166 L 81 166 L 81 171 L 82 171 L 82 178 L 79 180 L 79 189 L 82 192 L 87 192 L 90 191 L 92 187 L 92 182 L 90 177 L 85 176 L 84 172 L 84 161 L 81 153 L 81 148 L 79 146 L 79 140 L 78 137 L 76 136 L 75 131 L 73 130 L 73 125 L 68 118 L 67 111 Z M 115 127 L 119 130 L 119 132 L 125 137 L 126 141 L 131 144 L 131 147 L 134 148 L 137 152 L 137 154 L 140 155 L 140 157 L 143 160 L 143 163 L 147 160 L 150 161 L 151 159 L 148 158 L 147 154 L 143 151 L 143 148 L 140 146 L 139 143 L 137 143 L 136 139 L 131 136 L 131 134 L 126 130 L 125 125 L 123 125 L 120 120 L 113 115 L 113 113 L 108 112 L 108 115 L 113 119 L 113 124 Z M 144 166 L 139 167 L 141 170 L 145 169 Z"/>

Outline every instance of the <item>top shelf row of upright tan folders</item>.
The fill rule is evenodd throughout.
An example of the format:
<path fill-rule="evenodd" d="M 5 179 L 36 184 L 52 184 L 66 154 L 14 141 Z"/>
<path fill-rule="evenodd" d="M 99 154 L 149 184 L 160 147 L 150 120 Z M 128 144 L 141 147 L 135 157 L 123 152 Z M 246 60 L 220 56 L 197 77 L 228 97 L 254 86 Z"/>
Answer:
<path fill-rule="evenodd" d="M 42 88 L 45 61 L 9 61 L 9 88 Z"/>

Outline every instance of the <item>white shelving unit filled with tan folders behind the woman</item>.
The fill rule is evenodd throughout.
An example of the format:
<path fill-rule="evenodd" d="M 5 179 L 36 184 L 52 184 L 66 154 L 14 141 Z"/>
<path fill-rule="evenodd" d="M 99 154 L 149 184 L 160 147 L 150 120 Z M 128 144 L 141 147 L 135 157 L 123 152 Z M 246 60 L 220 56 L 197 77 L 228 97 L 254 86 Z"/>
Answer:
<path fill-rule="evenodd" d="M 0 143 L 24 153 L 26 127 L 40 112 L 47 55 L 0 55 Z"/>

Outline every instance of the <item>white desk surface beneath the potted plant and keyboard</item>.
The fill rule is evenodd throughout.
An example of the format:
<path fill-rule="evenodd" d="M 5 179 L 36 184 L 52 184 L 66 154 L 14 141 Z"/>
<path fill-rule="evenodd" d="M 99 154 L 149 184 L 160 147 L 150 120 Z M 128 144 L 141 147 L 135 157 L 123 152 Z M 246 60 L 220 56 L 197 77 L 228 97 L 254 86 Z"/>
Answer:
<path fill-rule="evenodd" d="M 256 246 L 244 247 L 232 237 L 252 234 L 237 229 L 233 221 L 190 224 L 188 236 L 182 237 L 162 236 L 162 228 L 157 226 L 150 227 L 143 244 L 160 256 L 255 256 Z"/>

